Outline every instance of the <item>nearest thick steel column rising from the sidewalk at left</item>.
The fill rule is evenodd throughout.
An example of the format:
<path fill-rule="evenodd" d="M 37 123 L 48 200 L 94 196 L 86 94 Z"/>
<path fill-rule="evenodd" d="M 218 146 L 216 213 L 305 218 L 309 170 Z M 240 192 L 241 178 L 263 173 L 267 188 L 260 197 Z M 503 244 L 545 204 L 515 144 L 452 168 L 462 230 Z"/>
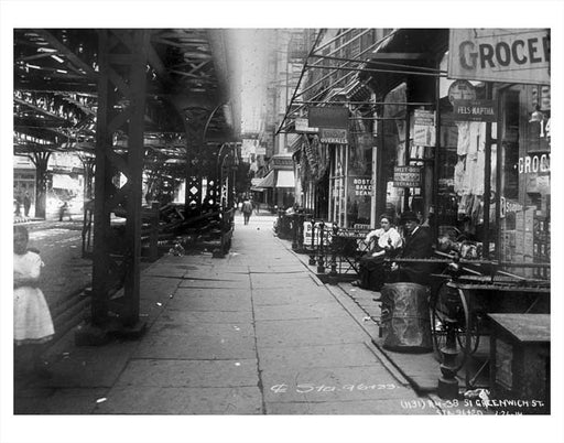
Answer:
<path fill-rule="evenodd" d="M 107 323 L 110 311 L 123 326 L 132 326 L 139 320 L 148 46 L 145 30 L 99 32 L 91 303 L 91 322 L 96 326 Z M 118 132 L 128 134 L 127 147 L 115 145 Z M 113 183 L 120 173 L 127 179 L 121 187 Z M 116 209 L 126 217 L 124 231 L 119 236 L 110 225 L 110 214 Z M 116 250 L 116 244 L 121 248 Z M 123 296 L 110 306 L 110 291 L 121 285 Z"/>

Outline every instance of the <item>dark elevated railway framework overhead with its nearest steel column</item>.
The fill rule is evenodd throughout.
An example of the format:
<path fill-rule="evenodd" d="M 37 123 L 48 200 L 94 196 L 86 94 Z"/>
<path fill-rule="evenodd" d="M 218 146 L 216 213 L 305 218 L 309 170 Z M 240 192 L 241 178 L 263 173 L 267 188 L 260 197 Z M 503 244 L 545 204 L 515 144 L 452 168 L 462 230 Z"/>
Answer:
<path fill-rule="evenodd" d="M 91 326 L 117 317 L 120 327 L 139 328 L 143 180 L 159 198 L 185 181 L 187 218 L 219 207 L 229 194 L 217 165 L 231 151 L 225 147 L 240 139 L 232 35 L 15 29 L 13 50 L 14 154 L 36 168 L 35 216 L 45 216 L 50 156 L 75 152 L 86 197 L 95 202 Z M 119 241 L 110 223 L 116 213 L 124 218 Z M 117 287 L 123 295 L 110 300 Z"/>

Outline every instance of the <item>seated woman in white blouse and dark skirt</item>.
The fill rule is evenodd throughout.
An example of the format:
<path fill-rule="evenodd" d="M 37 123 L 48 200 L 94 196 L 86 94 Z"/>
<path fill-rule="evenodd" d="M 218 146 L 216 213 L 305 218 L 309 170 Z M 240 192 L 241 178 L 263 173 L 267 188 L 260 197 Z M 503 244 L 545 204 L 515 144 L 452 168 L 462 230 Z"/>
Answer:
<path fill-rule="evenodd" d="M 392 227 L 389 215 L 380 217 L 380 228 L 368 233 L 365 242 L 369 245 L 369 251 L 360 259 L 360 279 L 354 281 L 352 285 L 380 291 L 386 277 L 383 259 L 395 256 L 402 247 L 400 233 Z"/>

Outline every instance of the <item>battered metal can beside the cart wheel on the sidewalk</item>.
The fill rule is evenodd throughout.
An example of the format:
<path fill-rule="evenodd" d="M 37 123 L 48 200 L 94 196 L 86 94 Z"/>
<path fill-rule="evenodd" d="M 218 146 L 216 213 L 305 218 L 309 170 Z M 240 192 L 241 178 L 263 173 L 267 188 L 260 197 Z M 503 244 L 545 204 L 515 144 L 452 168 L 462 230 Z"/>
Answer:
<path fill-rule="evenodd" d="M 427 287 L 390 283 L 381 294 L 383 347 L 404 353 L 433 350 Z"/>

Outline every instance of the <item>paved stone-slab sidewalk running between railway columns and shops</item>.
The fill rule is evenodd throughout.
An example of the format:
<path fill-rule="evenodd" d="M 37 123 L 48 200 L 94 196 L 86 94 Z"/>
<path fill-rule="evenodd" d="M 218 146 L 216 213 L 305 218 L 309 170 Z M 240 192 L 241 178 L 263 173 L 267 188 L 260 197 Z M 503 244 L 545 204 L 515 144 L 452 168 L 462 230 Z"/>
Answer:
<path fill-rule="evenodd" d="M 273 236 L 273 219 L 237 216 L 224 259 L 165 256 L 145 269 L 148 332 L 100 347 L 68 334 L 52 348 L 54 378 L 17 385 L 15 413 L 437 413 L 373 346 L 366 313 Z"/>

